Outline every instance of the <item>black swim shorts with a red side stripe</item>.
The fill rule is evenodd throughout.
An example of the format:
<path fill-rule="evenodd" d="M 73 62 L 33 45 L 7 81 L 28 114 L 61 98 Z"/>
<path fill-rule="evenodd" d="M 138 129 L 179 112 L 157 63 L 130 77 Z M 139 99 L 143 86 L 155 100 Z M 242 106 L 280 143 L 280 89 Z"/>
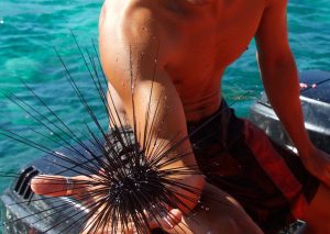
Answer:
<path fill-rule="evenodd" d="M 223 100 L 212 116 L 187 126 L 208 182 L 235 198 L 265 233 L 277 233 L 301 218 L 319 180 L 296 154 L 237 118 Z"/>

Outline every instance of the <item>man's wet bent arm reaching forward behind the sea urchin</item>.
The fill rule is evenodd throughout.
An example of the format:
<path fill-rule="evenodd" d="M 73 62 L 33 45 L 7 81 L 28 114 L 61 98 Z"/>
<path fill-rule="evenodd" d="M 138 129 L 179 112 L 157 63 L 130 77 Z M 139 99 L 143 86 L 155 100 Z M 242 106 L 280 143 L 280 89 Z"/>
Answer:
<path fill-rule="evenodd" d="M 134 122 L 136 124 L 136 135 L 141 145 L 144 145 L 144 135 L 150 134 L 151 127 L 161 131 L 160 134 L 152 135 L 153 143 L 170 142 L 177 134 L 180 137 L 187 135 L 182 101 L 165 70 L 167 63 L 173 58 L 172 36 L 164 22 L 157 20 L 158 16 L 155 10 L 150 8 L 132 7 L 127 9 L 118 22 L 111 19 L 100 25 L 102 67 L 124 104 L 131 126 Z M 154 116 L 154 121 L 151 121 Z M 169 146 L 163 151 L 168 148 Z M 183 142 L 172 155 L 175 157 L 187 152 L 193 152 L 189 141 Z M 172 166 L 187 168 L 196 165 L 191 153 Z M 205 183 L 200 175 L 183 176 L 179 179 L 197 189 L 202 189 Z M 178 192 L 193 199 L 184 201 L 189 209 L 196 205 L 199 199 L 197 194 L 184 190 Z M 180 209 L 185 210 L 184 207 Z"/>

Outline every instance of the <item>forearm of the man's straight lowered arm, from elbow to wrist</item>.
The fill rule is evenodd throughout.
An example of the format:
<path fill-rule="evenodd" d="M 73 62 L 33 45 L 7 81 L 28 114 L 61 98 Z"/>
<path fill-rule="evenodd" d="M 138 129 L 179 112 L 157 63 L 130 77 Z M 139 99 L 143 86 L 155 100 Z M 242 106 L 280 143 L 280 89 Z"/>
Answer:
<path fill-rule="evenodd" d="M 304 125 L 299 99 L 298 71 L 293 55 L 263 65 L 263 82 L 267 98 L 300 156 L 308 155 L 311 143 Z"/>

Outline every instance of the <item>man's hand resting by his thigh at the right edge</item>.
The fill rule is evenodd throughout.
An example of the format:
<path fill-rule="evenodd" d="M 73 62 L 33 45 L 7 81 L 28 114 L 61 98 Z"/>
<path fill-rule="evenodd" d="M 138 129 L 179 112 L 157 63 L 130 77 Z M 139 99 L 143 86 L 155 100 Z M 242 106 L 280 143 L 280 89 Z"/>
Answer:
<path fill-rule="evenodd" d="M 312 146 L 299 156 L 307 170 L 330 187 L 330 155 Z"/>

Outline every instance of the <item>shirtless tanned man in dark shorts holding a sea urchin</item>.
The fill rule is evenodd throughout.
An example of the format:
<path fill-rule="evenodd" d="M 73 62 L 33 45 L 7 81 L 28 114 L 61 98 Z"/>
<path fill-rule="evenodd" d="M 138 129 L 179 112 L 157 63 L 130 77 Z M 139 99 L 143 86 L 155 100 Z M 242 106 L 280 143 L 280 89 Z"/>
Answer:
<path fill-rule="evenodd" d="M 157 100 L 161 100 L 158 114 L 164 114 L 166 110 L 166 119 L 154 123 L 154 127 L 162 129 L 161 137 L 164 141 L 173 137 L 174 130 L 175 133 L 178 131 L 182 135 L 187 135 L 191 131 L 190 126 L 194 129 L 219 110 L 227 110 L 224 120 L 220 118 L 219 121 L 221 124 L 229 121 L 227 127 L 230 146 L 224 145 L 224 153 L 219 155 L 226 155 L 224 161 L 229 160 L 233 165 L 248 160 L 246 164 L 257 167 L 251 170 L 251 174 L 257 171 L 254 179 L 265 179 L 254 181 L 252 175 L 248 180 L 248 174 L 244 174 L 239 185 L 231 185 L 228 183 L 230 179 L 227 180 L 227 175 L 222 176 L 222 172 L 232 172 L 226 169 L 221 171 L 226 165 L 212 168 L 209 174 L 206 174 L 205 167 L 200 169 L 211 183 L 238 199 L 266 233 L 279 227 L 270 225 L 273 220 L 276 220 L 277 225 L 284 225 L 289 213 L 307 222 L 301 232 L 330 233 L 330 155 L 311 144 L 304 127 L 297 68 L 287 40 L 286 4 L 287 0 L 108 0 L 103 4 L 99 25 L 101 63 L 116 93 L 117 105 L 122 114 L 129 116 L 131 123 L 133 114 L 129 65 L 132 65 L 136 122 L 142 136 L 147 109 L 145 99 L 152 82 L 152 111 L 155 111 Z M 302 165 L 309 171 L 298 172 L 304 175 L 302 180 L 286 165 L 290 159 L 278 157 L 275 146 L 249 122 L 235 119 L 220 98 L 221 77 L 226 67 L 245 51 L 252 37 L 255 37 L 257 45 L 261 76 L 270 102 L 295 143 Z M 233 131 L 239 132 L 235 134 Z M 257 141 L 264 144 L 255 143 L 256 137 L 262 137 Z M 249 151 L 255 158 L 242 159 L 244 152 L 238 153 L 241 157 L 239 159 L 228 157 L 227 153 L 240 145 L 245 148 L 249 145 Z M 189 149 L 191 144 L 187 142 L 177 151 Z M 261 157 L 263 152 L 270 154 Z M 195 155 L 180 161 L 182 166 L 205 163 L 197 149 L 194 148 L 194 153 Z M 220 158 L 219 161 L 221 160 Z M 270 161 L 271 166 L 267 164 Z M 189 186 L 205 186 L 201 176 L 185 179 Z M 34 181 L 35 191 L 38 190 L 38 183 Z M 251 188 L 257 185 L 262 192 L 257 190 L 250 196 L 249 191 L 245 199 L 248 190 L 240 190 L 240 185 L 244 183 L 251 183 Z M 193 209 L 197 200 L 195 198 L 195 202 L 188 205 Z M 234 220 L 235 214 L 232 215 Z M 245 231 L 237 230 L 235 233 Z"/>

